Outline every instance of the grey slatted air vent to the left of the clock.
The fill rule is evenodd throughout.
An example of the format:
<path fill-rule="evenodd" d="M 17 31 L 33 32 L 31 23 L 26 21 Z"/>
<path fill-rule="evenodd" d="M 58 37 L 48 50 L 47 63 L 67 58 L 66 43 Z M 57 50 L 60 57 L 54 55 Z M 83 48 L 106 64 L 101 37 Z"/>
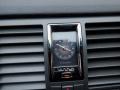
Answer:
<path fill-rule="evenodd" d="M 42 25 L 0 26 L 0 90 L 45 90 Z"/>

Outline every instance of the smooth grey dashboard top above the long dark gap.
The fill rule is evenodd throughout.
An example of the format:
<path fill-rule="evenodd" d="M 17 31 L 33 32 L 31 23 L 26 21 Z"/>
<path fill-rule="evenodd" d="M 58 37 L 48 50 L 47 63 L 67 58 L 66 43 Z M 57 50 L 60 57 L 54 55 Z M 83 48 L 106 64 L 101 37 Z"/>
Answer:
<path fill-rule="evenodd" d="M 0 15 L 120 12 L 119 0 L 0 0 Z"/>

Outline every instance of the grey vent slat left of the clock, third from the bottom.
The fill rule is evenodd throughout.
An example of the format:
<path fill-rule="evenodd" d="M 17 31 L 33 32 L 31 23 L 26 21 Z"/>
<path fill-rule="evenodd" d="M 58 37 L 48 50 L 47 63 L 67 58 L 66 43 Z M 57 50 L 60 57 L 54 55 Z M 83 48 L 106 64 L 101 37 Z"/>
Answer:
<path fill-rule="evenodd" d="M 42 64 L 21 64 L 21 65 L 4 65 L 1 68 L 0 74 L 13 73 L 29 73 L 29 72 L 44 72 L 45 67 Z"/>

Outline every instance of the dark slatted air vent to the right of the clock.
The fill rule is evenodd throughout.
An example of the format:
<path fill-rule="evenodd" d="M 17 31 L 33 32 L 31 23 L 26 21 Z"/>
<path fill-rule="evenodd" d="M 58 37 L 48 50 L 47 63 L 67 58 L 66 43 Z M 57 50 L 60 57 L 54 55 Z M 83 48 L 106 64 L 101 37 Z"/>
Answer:
<path fill-rule="evenodd" d="M 90 89 L 120 88 L 120 23 L 87 23 Z"/>

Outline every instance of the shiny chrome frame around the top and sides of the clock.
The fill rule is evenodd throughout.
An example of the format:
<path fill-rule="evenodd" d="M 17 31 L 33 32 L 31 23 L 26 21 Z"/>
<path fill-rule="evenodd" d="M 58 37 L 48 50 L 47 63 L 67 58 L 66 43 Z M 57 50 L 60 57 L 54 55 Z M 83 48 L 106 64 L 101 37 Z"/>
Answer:
<path fill-rule="evenodd" d="M 50 58 L 49 62 L 50 62 L 50 68 L 51 68 L 51 74 L 53 74 L 52 71 L 52 63 L 53 63 L 53 53 L 52 53 L 52 28 L 51 26 L 65 26 L 65 25 L 76 25 L 76 32 L 77 32 L 77 48 L 78 48 L 78 66 L 80 67 L 80 75 L 82 75 L 82 55 L 81 53 L 83 53 L 83 51 L 81 49 L 83 49 L 83 38 L 82 38 L 82 26 L 80 23 L 60 23 L 60 24 L 48 24 L 47 29 L 48 29 L 48 48 L 49 48 L 49 52 L 50 52 Z M 64 66 L 63 66 L 64 67 Z M 52 75 L 53 76 L 53 75 Z"/>

